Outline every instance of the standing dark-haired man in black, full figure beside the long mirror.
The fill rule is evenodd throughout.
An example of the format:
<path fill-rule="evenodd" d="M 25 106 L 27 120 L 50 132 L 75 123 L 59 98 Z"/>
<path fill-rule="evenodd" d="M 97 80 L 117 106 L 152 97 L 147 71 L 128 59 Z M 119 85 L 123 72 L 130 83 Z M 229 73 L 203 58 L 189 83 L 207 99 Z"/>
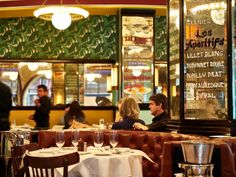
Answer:
<path fill-rule="evenodd" d="M 38 99 L 35 100 L 36 110 L 34 115 L 29 118 L 36 122 L 35 129 L 49 128 L 49 113 L 51 109 L 51 100 L 48 97 L 48 89 L 45 85 L 39 85 Z"/>

